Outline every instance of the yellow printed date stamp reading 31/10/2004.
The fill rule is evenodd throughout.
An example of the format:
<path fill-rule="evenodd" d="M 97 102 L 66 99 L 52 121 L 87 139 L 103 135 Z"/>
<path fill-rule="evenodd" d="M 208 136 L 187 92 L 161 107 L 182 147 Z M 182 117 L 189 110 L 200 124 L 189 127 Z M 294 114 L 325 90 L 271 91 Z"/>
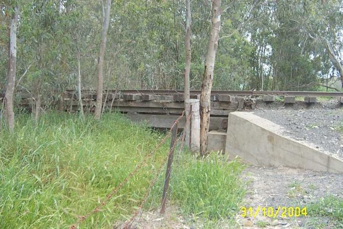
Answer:
<path fill-rule="evenodd" d="M 291 217 L 302 217 L 307 216 L 306 207 L 282 207 L 278 206 L 277 208 L 273 207 L 261 207 L 257 206 L 256 210 L 252 207 L 241 207 L 242 217 L 252 217 L 256 218 L 258 213 L 261 212 L 263 216 L 268 216 L 270 218 L 276 218 L 280 215 L 282 218 L 291 218 Z"/>

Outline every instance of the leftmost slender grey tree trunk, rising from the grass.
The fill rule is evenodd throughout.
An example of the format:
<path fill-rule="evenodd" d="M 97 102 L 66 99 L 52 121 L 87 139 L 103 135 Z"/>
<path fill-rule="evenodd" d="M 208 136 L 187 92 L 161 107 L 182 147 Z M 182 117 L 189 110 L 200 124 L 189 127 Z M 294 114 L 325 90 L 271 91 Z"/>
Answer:
<path fill-rule="evenodd" d="M 17 23 L 18 23 L 18 6 L 14 7 L 14 13 L 10 25 L 10 48 L 9 48 L 9 67 L 8 82 L 5 92 L 5 119 L 8 129 L 13 132 L 14 129 L 14 111 L 13 111 L 13 94 L 14 84 L 16 81 L 17 69 Z"/>

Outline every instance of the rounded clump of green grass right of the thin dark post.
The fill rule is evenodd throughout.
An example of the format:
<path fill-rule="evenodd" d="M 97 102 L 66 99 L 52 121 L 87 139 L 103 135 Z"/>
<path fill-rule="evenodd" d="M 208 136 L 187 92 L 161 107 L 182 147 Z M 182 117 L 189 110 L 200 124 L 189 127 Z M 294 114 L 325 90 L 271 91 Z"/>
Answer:
<path fill-rule="evenodd" d="M 203 159 L 180 155 L 173 164 L 169 198 L 183 214 L 199 217 L 208 225 L 216 225 L 220 220 L 234 224 L 245 195 L 244 183 L 239 178 L 243 169 L 239 162 L 227 162 L 215 153 Z M 154 198 L 160 198 L 159 192 L 156 188 L 152 190 Z"/>

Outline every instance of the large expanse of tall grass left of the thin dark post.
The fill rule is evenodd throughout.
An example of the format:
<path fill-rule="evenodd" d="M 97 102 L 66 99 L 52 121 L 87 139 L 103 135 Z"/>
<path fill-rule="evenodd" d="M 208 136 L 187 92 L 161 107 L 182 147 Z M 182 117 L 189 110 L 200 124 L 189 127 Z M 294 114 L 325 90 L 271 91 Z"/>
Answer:
<path fill-rule="evenodd" d="M 93 210 L 149 153 L 162 135 L 118 114 L 102 122 L 47 114 L 35 127 L 17 118 L 15 133 L 0 133 L 0 228 L 66 228 Z M 168 144 L 82 227 L 111 227 L 133 213 Z"/>

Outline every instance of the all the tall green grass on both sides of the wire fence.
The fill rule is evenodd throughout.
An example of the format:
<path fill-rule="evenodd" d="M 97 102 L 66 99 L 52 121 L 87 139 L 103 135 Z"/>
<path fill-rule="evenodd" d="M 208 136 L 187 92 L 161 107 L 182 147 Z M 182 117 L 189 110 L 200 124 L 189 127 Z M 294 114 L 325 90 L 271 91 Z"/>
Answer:
<path fill-rule="evenodd" d="M 49 113 L 37 127 L 30 115 L 19 115 L 14 134 L 0 132 L 0 228 L 70 227 L 98 206 L 162 137 L 119 114 L 82 122 L 76 114 Z M 167 142 L 81 228 L 112 228 L 128 219 L 168 151 Z M 216 155 L 199 160 L 181 152 L 173 164 L 170 200 L 184 214 L 214 224 L 233 218 L 245 193 L 238 178 L 242 169 Z M 159 178 L 147 208 L 161 202 L 164 172 Z"/>

